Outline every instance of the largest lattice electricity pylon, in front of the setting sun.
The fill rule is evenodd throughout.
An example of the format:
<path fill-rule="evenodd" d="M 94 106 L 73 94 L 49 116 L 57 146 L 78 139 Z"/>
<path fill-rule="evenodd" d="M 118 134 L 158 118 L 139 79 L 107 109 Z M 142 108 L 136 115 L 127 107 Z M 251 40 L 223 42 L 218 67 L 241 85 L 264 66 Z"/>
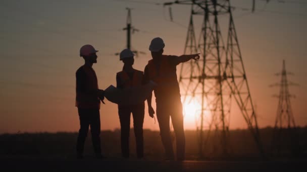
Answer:
<path fill-rule="evenodd" d="M 189 76 L 180 75 L 179 78 L 181 85 L 188 85 L 186 89 L 182 90 L 183 96 L 196 97 L 201 105 L 199 125 L 197 126 L 199 130 L 199 156 L 203 156 L 205 118 L 210 120 L 209 130 L 215 127 L 216 131 L 220 131 L 221 150 L 224 155 L 227 155 L 230 146 L 227 138 L 232 100 L 235 100 L 238 105 L 260 154 L 264 156 L 230 2 L 228 0 L 183 0 L 165 3 L 165 5 L 172 4 L 192 5 L 193 15 L 203 15 L 203 24 L 197 45 L 203 58 L 196 63 L 197 65 L 184 64 L 190 67 Z M 226 47 L 219 25 L 221 15 L 229 17 Z"/>

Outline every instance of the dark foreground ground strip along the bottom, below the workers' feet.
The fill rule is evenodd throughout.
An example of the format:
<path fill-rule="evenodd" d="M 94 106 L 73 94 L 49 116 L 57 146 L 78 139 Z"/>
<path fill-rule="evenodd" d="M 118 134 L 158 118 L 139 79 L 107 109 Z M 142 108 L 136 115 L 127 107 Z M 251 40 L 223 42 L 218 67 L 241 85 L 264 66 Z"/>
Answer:
<path fill-rule="evenodd" d="M 121 158 L 0 157 L 6 171 L 307 171 L 306 160 L 152 161 Z"/>

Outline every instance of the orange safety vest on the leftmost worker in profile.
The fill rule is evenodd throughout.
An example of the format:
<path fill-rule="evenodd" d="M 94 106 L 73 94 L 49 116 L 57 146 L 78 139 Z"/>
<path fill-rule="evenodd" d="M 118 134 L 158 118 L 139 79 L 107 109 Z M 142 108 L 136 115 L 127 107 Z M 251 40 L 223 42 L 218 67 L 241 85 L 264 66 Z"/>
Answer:
<path fill-rule="evenodd" d="M 82 69 L 86 75 L 85 93 L 76 92 L 76 107 L 82 109 L 100 109 L 100 100 L 96 95 L 88 94 L 91 90 L 98 89 L 97 76 L 92 68 L 85 65 Z"/>

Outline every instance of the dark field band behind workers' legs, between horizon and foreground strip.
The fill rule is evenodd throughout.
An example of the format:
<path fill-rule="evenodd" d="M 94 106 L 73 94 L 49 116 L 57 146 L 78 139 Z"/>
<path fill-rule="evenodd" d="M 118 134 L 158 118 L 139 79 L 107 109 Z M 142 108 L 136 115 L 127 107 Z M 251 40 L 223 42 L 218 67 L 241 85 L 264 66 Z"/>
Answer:
<path fill-rule="evenodd" d="M 272 128 L 260 129 L 261 140 L 265 153 L 270 156 Z M 207 138 L 208 132 L 204 132 Z M 220 135 L 220 134 L 219 134 Z M 26 156 L 58 156 L 70 157 L 75 156 L 76 141 L 78 133 L 16 133 L 0 135 L 0 156 L 3 155 L 26 155 Z M 301 154 L 307 158 L 307 127 L 299 130 L 299 147 Z M 120 150 L 120 130 L 101 131 L 101 149 L 103 154 L 108 157 L 121 157 Z M 175 135 L 172 133 L 175 145 Z M 198 159 L 198 134 L 196 131 L 185 131 L 186 138 L 186 159 Z M 223 152 L 221 140 L 212 132 L 203 145 L 203 156 L 206 159 L 201 160 L 221 160 Z M 290 145 L 291 138 L 286 135 L 281 136 L 280 142 L 285 145 L 282 147 L 281 156 L 290 157 L 291 153 L 287 147 Z M 255 145 L 254 139 L 249 130 L 231 130 L 228 137 L 228 153 L 231 160 L 249 160 L 257 159 L 259 149 Z M 276 146 L 275 146 L 276 147 Z M 135 137 L 133 129 L 130 131 L 130 155 L 135 157 Z M 85 155 L 92 155 L 93 149 L 91 144 L 90 133 L 85 142 Z M 144 130 L 144 155 L 150 160 L 161 160 L 164 158 L 164 148 L 162 146 L 159 131 Z M 223 159 L 223 158 L 222 158 Z"/>

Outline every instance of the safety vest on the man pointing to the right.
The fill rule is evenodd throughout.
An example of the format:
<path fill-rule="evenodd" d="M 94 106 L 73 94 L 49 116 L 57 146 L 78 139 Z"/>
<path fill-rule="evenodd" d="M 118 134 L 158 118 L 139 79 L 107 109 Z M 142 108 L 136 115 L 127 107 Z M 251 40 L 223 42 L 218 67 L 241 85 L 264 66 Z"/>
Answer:
<path fill-rule="evenodd" d="M 167 98 L 167 95 L 173 96 L 174 94 L 180 96 L 176 65 L 171 65 L 166 55 L 162 56 L 159 65 L 157 66 L 153 59 L 147 64 L 149 80 L 157 83 L 154 90 L 156 98 Z"/>

